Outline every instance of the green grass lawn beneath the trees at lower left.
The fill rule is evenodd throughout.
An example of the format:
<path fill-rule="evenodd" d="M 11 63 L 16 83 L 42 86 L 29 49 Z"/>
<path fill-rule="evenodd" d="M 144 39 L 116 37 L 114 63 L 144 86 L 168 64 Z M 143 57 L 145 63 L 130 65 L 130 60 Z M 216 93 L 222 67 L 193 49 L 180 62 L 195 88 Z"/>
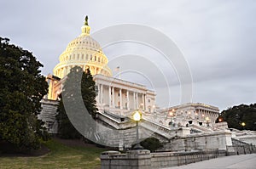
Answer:
<path fill-rule="evenodd" d="M 106 149 L 96 147 L 67 146 L 52 139 L 44 143 L 50 152 L 38 157 L 0 157 L 0 168 L 5 169 L 49 169 L 101 167 L 100 154 Z"/>

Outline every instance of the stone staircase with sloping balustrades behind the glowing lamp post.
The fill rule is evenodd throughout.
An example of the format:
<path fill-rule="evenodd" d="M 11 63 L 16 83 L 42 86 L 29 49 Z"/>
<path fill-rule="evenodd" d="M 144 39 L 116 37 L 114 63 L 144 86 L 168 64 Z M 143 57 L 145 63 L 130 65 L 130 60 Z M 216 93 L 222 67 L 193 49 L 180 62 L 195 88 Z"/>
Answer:
<path fill-rule="evenodd" d="M 134 144 L 136 140 L 136 123 L 129 117 L 115 115 L 109 111 L 98 112 L 97 121 L 104 124 L 105 129 L 99 130 L 97 136 L 104 139 L 106 144 L 120 146 L 120 144 Z M 176 130 L 171 130 L 154 121 L 142 119 L 138 123 L 139 138 L 154 137 L 159 138 L 161 142 L 167 142 L 176 135 Z M 107 143 L 108 142 L 108 143 Z"/>

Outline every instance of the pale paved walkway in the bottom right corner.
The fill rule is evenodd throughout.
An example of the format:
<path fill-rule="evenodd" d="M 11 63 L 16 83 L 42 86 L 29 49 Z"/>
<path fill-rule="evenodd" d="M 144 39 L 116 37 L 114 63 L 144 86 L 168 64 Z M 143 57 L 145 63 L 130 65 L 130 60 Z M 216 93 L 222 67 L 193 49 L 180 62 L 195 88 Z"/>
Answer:
<path fill-rule="evenodd" d="M 256 154 L 224 156 L 168 169 L 256 169 Z"/>

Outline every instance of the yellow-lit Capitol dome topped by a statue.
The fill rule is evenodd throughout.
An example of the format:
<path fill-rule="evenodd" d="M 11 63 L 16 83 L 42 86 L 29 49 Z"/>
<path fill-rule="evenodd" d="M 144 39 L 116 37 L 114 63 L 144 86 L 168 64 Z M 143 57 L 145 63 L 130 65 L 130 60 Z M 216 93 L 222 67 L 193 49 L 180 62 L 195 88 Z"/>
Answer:
<path fill-rule="evenodd" d="M 59 57 L 60 63 L 54 68 L 54 75 L 60 78 L 67 76 L 70 69 L 78 65 L 83 70 L 90 69 L 91 75 L 102 74 L 112 76 L 108 68 L 108 58 L 96 40 L 90 37 L 88 18 L 85 18 L 82 33 L 79 37 L 69 42 L 66 50 Z"/>

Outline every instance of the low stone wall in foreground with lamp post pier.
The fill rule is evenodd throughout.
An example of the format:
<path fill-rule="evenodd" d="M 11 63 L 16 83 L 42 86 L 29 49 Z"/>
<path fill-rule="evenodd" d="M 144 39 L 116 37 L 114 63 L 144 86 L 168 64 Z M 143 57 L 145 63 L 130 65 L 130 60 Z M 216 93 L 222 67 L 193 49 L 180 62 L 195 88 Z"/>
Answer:
<path fill-rule="evenodd" d="M 211 149 L 196 152 L 160 152 L 149 153 L 147 149 L 131 150 L 126 154 L 107 151 L 101 155 L 102 169 L 150 169 L 182 166 L 198 161 L 225 156 L 226 151 Z"/>

